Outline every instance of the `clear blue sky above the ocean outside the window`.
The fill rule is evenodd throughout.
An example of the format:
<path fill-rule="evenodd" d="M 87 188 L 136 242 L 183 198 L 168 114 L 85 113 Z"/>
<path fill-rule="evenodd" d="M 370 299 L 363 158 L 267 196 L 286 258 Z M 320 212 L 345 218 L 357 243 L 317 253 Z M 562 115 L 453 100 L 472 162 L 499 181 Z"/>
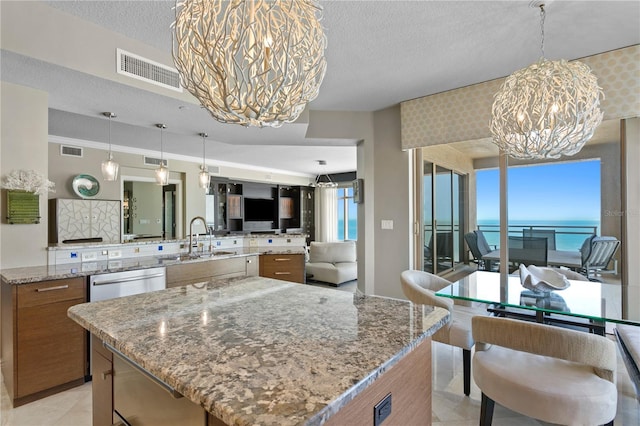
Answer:
<path fill-rule="evenodd" d="M 509 167 L 509 222 L 600 220 L 600 161 Z M 499 170 L 480 170 L 478 221 L 500 217 Z"/>

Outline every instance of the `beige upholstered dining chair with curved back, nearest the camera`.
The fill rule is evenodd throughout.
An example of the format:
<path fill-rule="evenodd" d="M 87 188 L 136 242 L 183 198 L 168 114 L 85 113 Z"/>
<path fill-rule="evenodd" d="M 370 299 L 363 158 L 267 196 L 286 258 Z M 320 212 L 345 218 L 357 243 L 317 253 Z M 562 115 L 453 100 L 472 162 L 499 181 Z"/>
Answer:
<path fill-rule="evenodd" d="M 590 333 L 502 317 L 474 317 L 473 378 L 480 425 L 494 403 L 564 425 L 613 425 L 616 347 Z"/>

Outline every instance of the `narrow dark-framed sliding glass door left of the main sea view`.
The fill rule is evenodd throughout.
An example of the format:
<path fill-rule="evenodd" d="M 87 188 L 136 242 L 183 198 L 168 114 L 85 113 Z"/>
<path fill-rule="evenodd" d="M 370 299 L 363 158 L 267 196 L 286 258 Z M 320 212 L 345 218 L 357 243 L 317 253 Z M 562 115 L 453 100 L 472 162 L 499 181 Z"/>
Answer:
<path fill-rule="evenodd" d="M 429 161 L 423 163 L 423 170 L 423 269 L 438 274 L 463 259 L 465 179 Z"/>

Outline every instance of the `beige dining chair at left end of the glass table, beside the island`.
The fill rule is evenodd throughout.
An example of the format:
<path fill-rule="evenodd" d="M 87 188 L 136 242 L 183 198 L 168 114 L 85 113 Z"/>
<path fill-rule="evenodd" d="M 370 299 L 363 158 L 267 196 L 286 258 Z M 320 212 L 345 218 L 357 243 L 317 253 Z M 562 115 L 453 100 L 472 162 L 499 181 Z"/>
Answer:
<path fill-rule="evenodd" d="M 446 279 L 429 272 L 406 270 L 400 274 L 402 291 L 407 299 L 421 305 L 431 305 L 447 309 L 451 320 L 432 336 L 436 342 L 462 348 L 462 370 L 464 394 L 471 393 L 471 318 L 487 315 L 486 307 L 456 305 L 453 299 L 436 296 L 435 292 L 451 284 Z"/>

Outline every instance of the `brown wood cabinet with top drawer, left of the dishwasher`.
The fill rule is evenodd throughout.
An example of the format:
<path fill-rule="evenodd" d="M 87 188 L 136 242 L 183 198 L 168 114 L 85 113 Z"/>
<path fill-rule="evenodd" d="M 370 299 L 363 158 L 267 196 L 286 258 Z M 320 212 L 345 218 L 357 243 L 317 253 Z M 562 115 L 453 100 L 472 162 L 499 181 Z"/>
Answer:
<path fill-rule="evenodd" d="M 2 373 L 14 407 L 84 383 L 86 332 L 67 309 L 86 295 L 83 277 L 2 283 Z"/>

